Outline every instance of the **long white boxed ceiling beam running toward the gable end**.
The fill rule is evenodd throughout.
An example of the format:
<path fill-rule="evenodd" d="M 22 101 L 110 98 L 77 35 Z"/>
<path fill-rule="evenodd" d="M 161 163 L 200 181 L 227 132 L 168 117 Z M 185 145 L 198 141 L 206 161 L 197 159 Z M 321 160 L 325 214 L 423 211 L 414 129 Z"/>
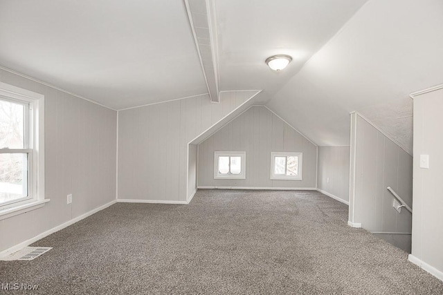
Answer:
<path fill-rule="evenodd" d="M 192 6 L 190 1 L 195 3 L 194 5 L 205 6 L 206 14 L 202 12 L 192 12 Z M 219 64 L 217 53 L 217 29 L 215 23 L 215 8 L 213 1 L 210 0 L 184 0 L 186 6 L 186 12 L 188 14 L 188 20 L 192 30 L 192 36 L 194 37 L 195 46 L 197 48 L 197 54 L 199 55 L 199 61 L 201 70 L 206 82 L 206 88 L 208 88 L 209 98 L 211 102 L 220 102 L 219 93 Z M 196 26 L 192 17 L 192 13 L 197 15 L 204 15 L 206 19 L 206 26 Z M 198 29 L 198 30 L 197 30 Z M 208 33 L 208 36 L 205 35 Z M 206 40 L 201 43 L 199 39 Z M 206 50 L 204 50 L 206 48 Z M 208 53 L 208 50 L 210 53 Z"/>

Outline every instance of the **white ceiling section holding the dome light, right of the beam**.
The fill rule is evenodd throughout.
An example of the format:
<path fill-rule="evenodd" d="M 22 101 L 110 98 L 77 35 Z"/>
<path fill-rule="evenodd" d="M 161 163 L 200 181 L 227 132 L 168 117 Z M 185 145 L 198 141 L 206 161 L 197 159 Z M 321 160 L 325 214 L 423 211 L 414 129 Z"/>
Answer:
<path fill-rule="evenodd" d="M 221 90 L 273 95 L 366 1 L 215 1 Z M 275 54 L 293 57 L 280 73 L 264 64 Z"/>

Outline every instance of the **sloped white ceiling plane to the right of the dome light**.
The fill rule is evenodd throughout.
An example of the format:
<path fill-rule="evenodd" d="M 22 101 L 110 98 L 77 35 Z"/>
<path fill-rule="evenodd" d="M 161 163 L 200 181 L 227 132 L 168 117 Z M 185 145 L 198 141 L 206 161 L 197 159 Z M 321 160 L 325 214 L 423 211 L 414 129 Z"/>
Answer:
<path fill-rule="evenodd" d="M 269 107 L 320 146 L 350 144 L 359 111 L 412 152 L 411 92 L 443 82 L 443 1 L 371 0 Z"/>

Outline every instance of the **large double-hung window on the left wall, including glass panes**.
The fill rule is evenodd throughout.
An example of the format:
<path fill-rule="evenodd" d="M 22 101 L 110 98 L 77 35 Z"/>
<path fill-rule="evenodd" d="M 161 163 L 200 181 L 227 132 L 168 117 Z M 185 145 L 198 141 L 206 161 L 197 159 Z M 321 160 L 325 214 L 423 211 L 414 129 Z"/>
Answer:
<path fill-rule="evenodd" d="M 44 198 L 44 97 L 0 83 L 0 213 Z"/>

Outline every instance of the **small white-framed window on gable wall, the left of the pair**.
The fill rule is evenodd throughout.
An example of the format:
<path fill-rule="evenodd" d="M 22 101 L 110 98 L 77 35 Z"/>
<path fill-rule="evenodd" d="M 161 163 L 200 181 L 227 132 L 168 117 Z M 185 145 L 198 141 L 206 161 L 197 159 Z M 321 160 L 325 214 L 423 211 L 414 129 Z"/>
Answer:
<path fill-rule="evenodd" d="M 216 151 L 214 179 L 246 179 L 246 152 Z"/>

